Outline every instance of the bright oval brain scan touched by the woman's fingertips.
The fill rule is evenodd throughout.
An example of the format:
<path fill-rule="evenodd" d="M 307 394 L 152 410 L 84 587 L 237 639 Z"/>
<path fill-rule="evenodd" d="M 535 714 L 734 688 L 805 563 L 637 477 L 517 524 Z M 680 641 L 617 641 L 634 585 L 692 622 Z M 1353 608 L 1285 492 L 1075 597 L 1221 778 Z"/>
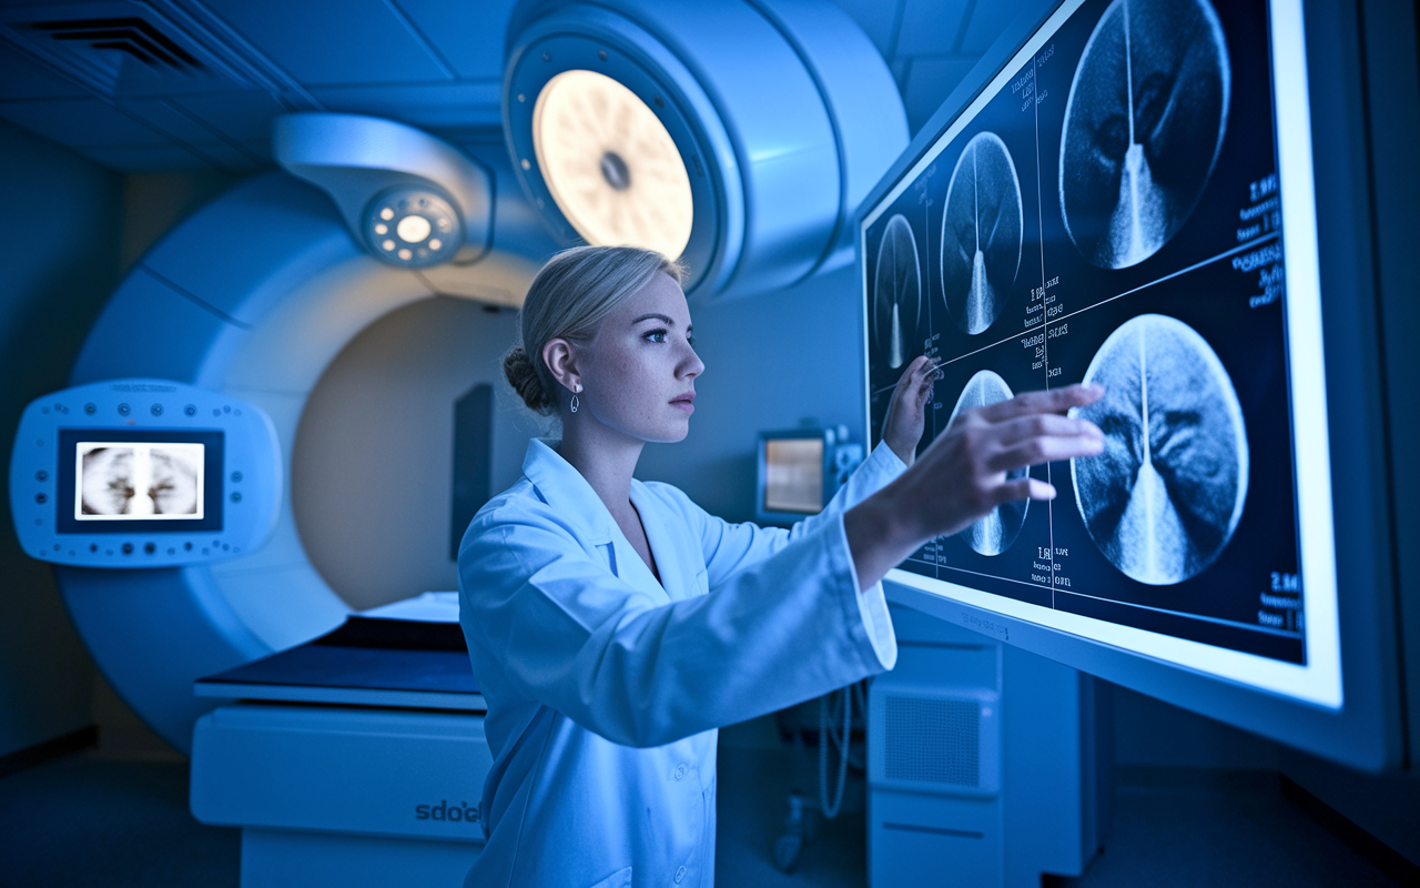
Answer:
<path fill-rule="evenodd" d="M 1085 371 L 1105 396 L 1072 415 L 1105 452 L 1071 460 L 1089 536 L 1126 575 L 1181 583 L 1223 553 L 1242 516 L 1247 429 L 1233 381 L 1191 327 L 1143 314 L 1109 334 Z"/>

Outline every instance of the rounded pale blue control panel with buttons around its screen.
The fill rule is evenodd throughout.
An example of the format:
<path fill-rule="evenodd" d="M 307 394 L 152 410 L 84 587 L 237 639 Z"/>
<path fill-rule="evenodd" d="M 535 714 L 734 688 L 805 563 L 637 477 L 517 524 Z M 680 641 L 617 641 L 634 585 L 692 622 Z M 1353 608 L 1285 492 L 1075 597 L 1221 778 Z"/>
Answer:
<path fill-rule="evenodd" d="M 166 379 L 68 388 L 26 408 L 10 513 L 30 556 L 80 567 L 182 567 L 266 543 L 281 449 L 256 405 Z"/>

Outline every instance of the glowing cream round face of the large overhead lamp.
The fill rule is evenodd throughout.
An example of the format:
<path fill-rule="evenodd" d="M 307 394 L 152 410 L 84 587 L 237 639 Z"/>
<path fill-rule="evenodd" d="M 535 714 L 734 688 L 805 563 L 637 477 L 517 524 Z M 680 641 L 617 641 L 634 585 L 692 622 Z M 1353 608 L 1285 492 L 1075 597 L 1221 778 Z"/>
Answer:
<path fill-rule="evenodd" d="M 596 71 L 562 71 L 537 97 L 532 145 L 552 199 L 588 243 L 684 253 L 690 175 L 635 92 Z"/>

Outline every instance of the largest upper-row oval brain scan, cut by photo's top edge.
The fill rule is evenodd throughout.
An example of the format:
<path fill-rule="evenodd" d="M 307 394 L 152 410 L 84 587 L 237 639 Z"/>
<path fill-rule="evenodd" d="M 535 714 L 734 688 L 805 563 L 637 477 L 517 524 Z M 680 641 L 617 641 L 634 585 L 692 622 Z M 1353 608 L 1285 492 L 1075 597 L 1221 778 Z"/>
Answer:
<path fill-rule="evenodd" d="M 1223 146 L 1230 71 L 1207 0 L 1115 0 L 1100 16 L 1059 165 L 1065 227 L 1091 264 L 1135 266 L 1187 222 Z"/>

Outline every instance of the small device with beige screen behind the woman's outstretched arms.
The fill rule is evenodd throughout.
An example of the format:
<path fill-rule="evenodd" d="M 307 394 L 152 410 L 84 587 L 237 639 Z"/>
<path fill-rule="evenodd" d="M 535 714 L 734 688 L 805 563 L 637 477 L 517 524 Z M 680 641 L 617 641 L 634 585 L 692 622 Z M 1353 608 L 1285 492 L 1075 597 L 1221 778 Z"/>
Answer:
<path fill-rule="evenodd" d="M 754 520 L 792 524 L 822 511 L 863 462 L 863 445 L 848 439 L 848 426 L 761 432 Z"/>

